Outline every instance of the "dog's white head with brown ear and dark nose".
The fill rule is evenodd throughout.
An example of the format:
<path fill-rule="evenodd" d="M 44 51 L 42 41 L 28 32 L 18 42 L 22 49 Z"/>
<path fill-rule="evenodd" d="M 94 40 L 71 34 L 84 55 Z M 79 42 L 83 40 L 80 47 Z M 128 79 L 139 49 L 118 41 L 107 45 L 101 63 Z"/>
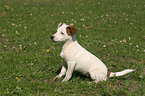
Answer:
<path fill-rule="evenodd" d="M 72 38 L 73 35 L 76 34 L 77 29 L 66 25 L 65 23 L 58 24 L 57 32 L 51 36 L 53 41 L 67 41 Z"/>

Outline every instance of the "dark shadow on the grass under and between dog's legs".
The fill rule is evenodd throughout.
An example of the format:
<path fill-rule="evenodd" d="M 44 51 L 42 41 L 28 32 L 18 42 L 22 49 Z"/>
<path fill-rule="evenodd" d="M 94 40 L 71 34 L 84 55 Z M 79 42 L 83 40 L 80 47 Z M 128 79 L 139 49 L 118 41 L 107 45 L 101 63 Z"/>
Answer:
<path fill-rule="evenodd" d="M 61 71 L 61 67 L 59 67 L 58 70 L 56 70 L 55 73 L 58 75 L 60 73 L 60 71 Z M 64 78 L 64 76 L 61 77 L 60 79 L 62 80 L 63 78 Z M 81 74 L 78 71 L 74 71 L 73 72 L 71 79 L 73 79 L 73 78 L 79 78 L 79 79 L 86 80 L 86 81 L 92 81 L 92 79 L 91 79 L 91 77 L 89 75 L 85 76 L 85 75 Z"/>

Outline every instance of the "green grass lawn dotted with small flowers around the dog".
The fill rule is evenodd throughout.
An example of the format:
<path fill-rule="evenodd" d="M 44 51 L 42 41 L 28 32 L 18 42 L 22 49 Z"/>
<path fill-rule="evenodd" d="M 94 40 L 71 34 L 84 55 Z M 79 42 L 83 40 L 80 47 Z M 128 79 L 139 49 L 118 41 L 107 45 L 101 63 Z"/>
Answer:
<path fill-rule="evenodd" d="M 144 9 L 144 0 L 0 0 L 0 95 L 145 95 Z M 111 72 L 136 71 L 97 84 L 76 72 L 53 82 L 61 43 L 50 36 L 60 22 L 74 24 L 78 42 Z"/>

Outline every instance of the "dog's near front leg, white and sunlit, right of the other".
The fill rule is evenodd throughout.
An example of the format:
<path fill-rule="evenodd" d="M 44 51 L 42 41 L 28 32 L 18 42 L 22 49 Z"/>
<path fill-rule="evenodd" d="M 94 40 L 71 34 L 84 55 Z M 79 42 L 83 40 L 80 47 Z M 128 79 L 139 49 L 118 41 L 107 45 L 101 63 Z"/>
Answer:
<path fill-rule="evenodd" d="M 68 65 L 68 68 L 67 68 L 66 76 L 62 80 L 62 82 L 66 82 L 66 81 L 68 81 L 71 78 L 73 70 L 74 70 L 74 67 L 75 67 L 75 63 L 74 62 L 68 62 L 67 65 Z"/>

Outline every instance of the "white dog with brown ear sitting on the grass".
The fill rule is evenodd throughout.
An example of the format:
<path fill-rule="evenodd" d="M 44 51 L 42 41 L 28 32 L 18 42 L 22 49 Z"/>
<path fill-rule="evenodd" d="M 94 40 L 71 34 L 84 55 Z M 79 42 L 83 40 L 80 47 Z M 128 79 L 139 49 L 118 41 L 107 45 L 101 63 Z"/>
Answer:
<path fill-rule="evenodd" d="M 60 23 L 57 32 L 51 36 L 54 42 L 62 42 L 60 56 L 63 58 L 63 66 L 56 78 L 66 75 L 62 82 L 68 81 L 73 71 L 83 75 L 89 75 L 94 82 L 105 81 L 109 77 L 122 76 L 133 72 L 133 69 L 126 69 L 121 72 L 109 72 L 105 64 L 96 56 L 84 49 L 76 40 L 77 29 L 75 27 Z"/>

